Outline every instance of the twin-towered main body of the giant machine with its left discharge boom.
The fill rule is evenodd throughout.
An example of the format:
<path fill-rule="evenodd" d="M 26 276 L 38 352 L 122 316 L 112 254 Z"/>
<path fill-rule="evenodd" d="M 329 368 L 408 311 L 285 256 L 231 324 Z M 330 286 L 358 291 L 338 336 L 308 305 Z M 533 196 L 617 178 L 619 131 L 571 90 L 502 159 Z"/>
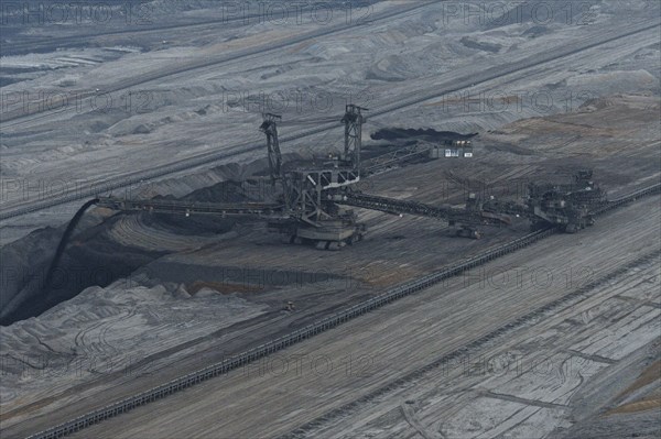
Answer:
<path fill-rule="evenodd" d="M 213 215 L 266 220 L 271 231 L 284 234 L 288 242 L 313 244 L 317 249 L 338 250 L 360 241 L 367 230 L 356 213 L 327 197 L 360 180 L 360 134 L 367 109 L 348 105 L 342 119 L 345 124 L 345 151 L 327 157 L 322 166 L 285 168 L 278 138 L 281 117 L 267 113 L 260 130 L 267 136 L 271 184 L 280 187 L 277 202 L 192 202 L 161 199 L 122 199 L 100 197 L 98 206 L 121 211 Z M 315 161 L 316 162 L 316 161 Z"/>

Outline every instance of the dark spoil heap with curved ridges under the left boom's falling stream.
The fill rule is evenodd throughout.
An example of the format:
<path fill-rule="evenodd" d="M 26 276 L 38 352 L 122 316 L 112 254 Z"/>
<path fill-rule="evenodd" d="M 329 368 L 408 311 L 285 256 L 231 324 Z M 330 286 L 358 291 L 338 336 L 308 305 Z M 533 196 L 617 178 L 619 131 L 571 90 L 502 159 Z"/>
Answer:
<path fill-rule="evenodd" d="M 241 202 L 251 200 L 258 194 L 254 188 L 259 187 L 254 182 L 224 182 L 183 199 Z M 204 245 L 227 233 L 234 235 L 237 223 L 209 217 L 113 213 L 106 209 L 87 213 L 66 242 L 62 260 L 53 267 L 50 285 L 47 277 L 54 259 L 51 249 L 63 237 L 65 227 L 35 231 L 4 246 L 2 325 L 37 316 L 89 286 L 105 287 L 164 254 Z M 151 235 L 141 232 L 143 229 L 151 231 Z"/>

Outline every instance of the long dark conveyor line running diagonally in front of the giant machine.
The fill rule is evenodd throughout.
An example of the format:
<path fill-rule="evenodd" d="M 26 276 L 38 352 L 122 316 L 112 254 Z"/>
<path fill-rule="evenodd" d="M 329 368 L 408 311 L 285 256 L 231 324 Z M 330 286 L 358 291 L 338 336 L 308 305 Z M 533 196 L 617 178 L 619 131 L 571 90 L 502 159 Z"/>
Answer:
<path fill-rule="evenodd" d="M 625 205 L 628 205 L 639 198 L 651 196 L 661 191 L 661 184 L 655 184 L 649 186 L 647 188 L 637 190 L 632 194 L 629 194 L 622 198 L 618 198 L 617 200 L 610 201 L 604 207 L 595 210 L 593 212 L 594 216 L 603 215 L 607 211 L 615 210 Z M 404 284 L 398 285 L 386 293 L 376 296 L 373 298 L 367 299 L 360 304 L 354 305 L 349 308 L 346 308 L 339 312 L 327 316 L 312 325 L 308 325 L 304 328 L 297 329 L 286 336 L 280 337 L 278 339 L 271 340 L 264 344 L 250 349 L 246 352 L 242 352 L 238 355 L 235 355 L 228 360 L 223 362 L 212 364 L 198 371 L 192 372 L 189 374 L 180 376 L 175 380 L 172 380 L 167 383 L 164 383 L 158 387 L 153 387 L 149 391 L 142 392 L 138 395 L 133 395 L 131 397 L 118 400 L 108 406 L 98 408 L 94 411 L 79 416 L 75 419 L 50 428 L 45 431 L 41 431 L 36 435 L 30 436 L 29 439 L 53 439 L 61 438 L 73 432 L 79 431 L 86 427 L 98 424 L 105 419 L 112 418 L 122 413 L 129 411 L 136 407 L 149 404 L 156 399 L 163 398 L 167 395 L 172 395 L 178 391 L 191 387 L 195 384 L 202 383 L 208 378 L 214 376 L 223 375 L 232 371 L 235 369 L 241 367 L 248 363 L 251 363 L 256 360 L 264 358 L 271 353 L 281 351 L 290 345 L 296 344 L 303 340 L 311 339 L 312 337 L 325 332 L 329 329 L 340 326 L 344 322 L 355 319 L 356 317 L 362 316 L 367 312 L 373 311 L 375 309 L 379 309 L 388 304 L 391 304 L 395 300 L 399 300 L 403 297 L 410 296 L 413 293 L 423 290 L 425 288 L 431 287 L 432 285 L 438 284 L 440 282 L 462 274 L 468 270 L 475 268 L 477 266 L 484 265 L 490 261 L 494 261 L 500 256 L 503 256 L 509 253 L 513 253 L 520 249 L 527 248 L 538 241 L 543 240 L 544 238 L 551 237 L 557 232 L 556 229 L 545 229 L 541 231 L 537 231 L 525 237 L 519 238 L 514 241 L 511 241 L 507 244 L 500 245 L 495 249 L 487 250 L 486 252 L 473 256 L 462 263 L 458 263 L 454 266 L 447 267 L 436 273 L 427 274 L 423 277 L 420 277 L 415 281 L 410 281 Z"/>

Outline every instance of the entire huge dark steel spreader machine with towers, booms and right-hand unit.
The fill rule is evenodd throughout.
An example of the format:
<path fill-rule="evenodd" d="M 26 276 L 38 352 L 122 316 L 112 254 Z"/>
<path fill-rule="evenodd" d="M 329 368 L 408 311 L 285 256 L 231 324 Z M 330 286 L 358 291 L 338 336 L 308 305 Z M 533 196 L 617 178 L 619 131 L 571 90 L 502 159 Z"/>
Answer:
<path fill-rule="evenodd" d="M 592 173 L 579 174 L 573 185 L 531 185 L 525 206 L 483 204 L 469 198 L 465 208 L 451 208 L 362 194 L 356 188 L 361 177 L 378 173 L 380 166 L 392 165 L 390 158 L 361 164 L 364 111 L 368 110 L 355 105 L 346 106 L 342 118 L 344 151 L 321 162 L 315 160 L 314 163 L 322 163 L 321 166 L 292 167 L 283 163 L 278 138 L 281 117 L 263 116 L 260 130 L 267 136 L 270 180 L 280 190 L 277 202 L 224 204 L 101 197 L 97 205 L 122 211 L 262 219 L 269 230 L 282 233 L 285 241 L 312 244 L 321 250 L 339 250 L 362 240 L 367 227 L 358 221 L 349 207 L 435 218 L 456 228 L 457 235 L 474 239 L 480 238 L 479 226 L 509 226 L 510 213 L 530 218 L 534 227 L 562 227 L 567 232 L 592 223 L 589 206 L 603 196 L 590 180 Z"/>

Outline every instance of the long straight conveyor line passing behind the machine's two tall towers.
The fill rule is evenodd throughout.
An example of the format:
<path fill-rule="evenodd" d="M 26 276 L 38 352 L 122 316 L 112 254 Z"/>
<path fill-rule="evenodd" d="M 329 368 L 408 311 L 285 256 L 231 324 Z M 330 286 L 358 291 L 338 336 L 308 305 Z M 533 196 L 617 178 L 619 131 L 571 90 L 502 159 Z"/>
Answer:
<path fill-rule="evenodd" d="M 419 105 L 421 102 L 424 102 L 426 100 L 444 96 L 449 92 L 454 92 L 454 91 L 462 90 L 467 87 L 480 85 L 480 84 L 484 84 L 484 83 L 487 83 L 487 81 L 490 81 L 494 79 L 498 79 L 498 78 L 507 76 L 507 75 L 527 70 L 529 68 L 538 67 L 538 66 L 554 62 L 556 59 L 560 59 L 560 58 L 563 58 L 566 56 L 575 55 L 583 51 L 599 47 L 602 45 L 615 42 L 620 39 L 637 35 L 639 33 L 648 32 L 650 30 L 657 30 L 660 24 L 659 22 L 654 22 L 654 24 L 651 24 L 651 25 L 649 24 L 649 22 L 647 22 L 647 23 L 648 23 L 648 25 L 642 25 L 641 23 L 638 23 L 635 26 L 636 28 L 635 31 L 619 33 L 616 35 L 609 35 L 607 37 L 602 36 L 602 39 L 587 40 L 584 43 L 582 43 L 581 46 L 578 46 L 578 47 L 567 48 L 567 47 L 563 46 L 563 47 L 559 47 L 559 48 L 549 51 L 541 57 L 540 56 L 529 57 L 527 59 L 521 61 L 520 63 L 517 63 L 516 65 L 496 66 L 494 68 L 484 70 L 479 75 L 476 75 L 472 78 L 467 78 L 464 80 L 453 83 L 453 86 L 451 88 L 445 88 L 445 89 L 440 90 L 440 87 L 435 86 L 435 87 L 431 87 L 430 89 L 420 90 L 420 91 L 413 94 L 408 99 L 398 100 L 397 102 L 386 106 L 378 111 L 372 111 L 371 117 L 373 118 L 373 117 L 388 114 L 388 113 L 404 109 L 407 107 L 412 107 L 412 106 Z M 273 47 L 273 48 L 277 48 L 277 47 Z M 316 127 L 314 129 L 303 131 L 299 134 L 283 138 L 283 139 L 281 139 L 281 141 L 282 142 L 291 142 L 291 141 L 304 139 L 304 138 L 307 138 L 307 136 L 311 136 L 314 134 L 327 132 L 333 129 L 336 129 L 335 123 L 323 124 L 323 125 Z M 208 166 L 213 162 L 231 158 L 234 156 L 245 154 L 246 152 L 257 151 L 257 150 L 262 149 L 261 145 L 254 145 L 253 143 L 241 143 L 238 145 L 232 145 L 230 147 L 234 151 L 231 151 L 231 152 L 216 151 L 216 152 L 212 152 L 212 153 L 199 154 L 199 155 L 196 155 L 193 157 L 182 160 L 175 164 L 154 166 L 153 168 L 151 168 L 148 172 L 141 171 L 141 172 L 124 174 L 119 177 L 113 177 L 113 178 L 108 179 L 107 182 L 104 182 L 102 187 L 108 191 L 115 190 L 118 188 L 129 187 L 131 185 L 138 184 L 143 180 L 160 178 L 160 177 L 163 177 L 166 175 L 175 174 L 178 172 L 192 169 L 192 168 L 199 167 L 199 166 Z M 67 204 L 71 201 L 89 198 L 89 197 L 98 195 L 97 191 L 98 191 L 98 189 L 95 190 L 94 188 L 88 189 L 88 190 L 77 190 L 73 194 L 71 194 L 71 193 L 65 194 L 65 195 L 56 197 L 56 198 L 41 200 L 37 202 L 30 204 L 28 206 L 18 206 L 12 209 L 7 209 L 3 212 L 0 212 L 0 220 L 15 218 L 15 217 L 20 217 L 20 216 L 23 216 L 26 213 L 47 209 L 47 208 L 51 208 L 54 206 L 59 206 L 59 205 L 64 205 L 64 204 Z"/>

